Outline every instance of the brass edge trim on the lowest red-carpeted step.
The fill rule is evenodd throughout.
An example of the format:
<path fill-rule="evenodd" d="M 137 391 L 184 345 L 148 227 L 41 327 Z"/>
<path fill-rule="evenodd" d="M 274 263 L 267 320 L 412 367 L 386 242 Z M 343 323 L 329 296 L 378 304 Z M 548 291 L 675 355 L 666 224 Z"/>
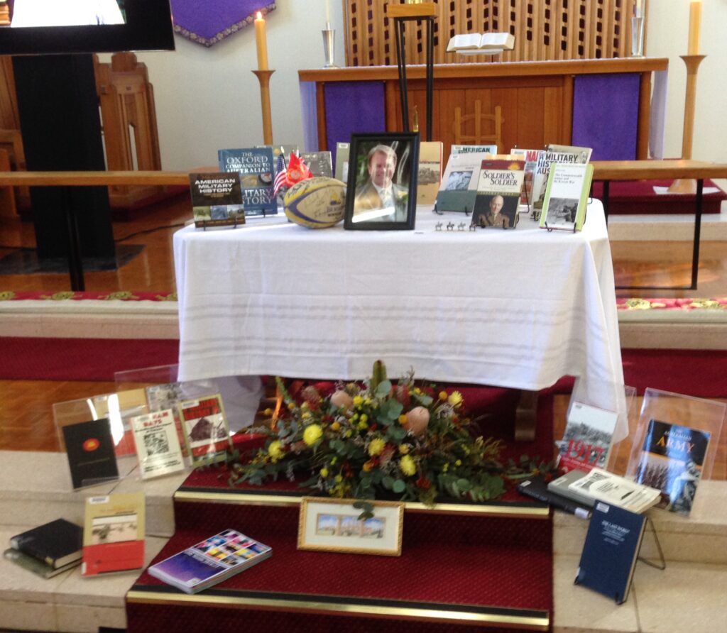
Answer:
<path fill-rule="evenodd" d="M 393 607 L 385 605 L 357 605 L 350 602 L 329 603 L 316 600 L 281 600 L 263 597 L 232 597 L 209 594 L 166 594 L 163 592 L 140 592 L 134 589 L 126 593 L 126 602 L 131 604 L 150 605 L 191 605 L 208 607 L 227 607 L 258 610 L 286 610 L 308 613 L 337 613 L 350 616 L 371 616 L 378 618 L 399 618 L 419 621 L 438 621 L 449 624 L 488 624 L 502 626 L 518 626 L 533 631 L 547 631 L 550 616 L 547 611 L 537 611 L 539 616 L 517 615 L 518 609 L 512 609 L 513 615 L 499 613 L 477 613 L 464 610 L 424 609 L 411 607 Z M 529 610 L 533 613 L 534 610 Z"/>

